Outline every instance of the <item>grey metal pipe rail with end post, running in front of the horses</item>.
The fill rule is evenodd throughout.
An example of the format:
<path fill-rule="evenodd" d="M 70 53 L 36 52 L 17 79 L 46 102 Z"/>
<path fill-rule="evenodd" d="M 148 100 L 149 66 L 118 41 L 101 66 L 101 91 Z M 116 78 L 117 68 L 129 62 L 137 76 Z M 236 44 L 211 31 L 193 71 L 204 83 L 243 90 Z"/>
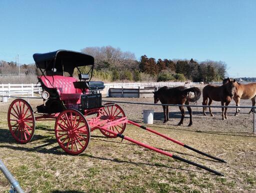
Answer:
<path fill-rule="evenodd" d="M 212 107 L 212 108 L 252 108 L 253 115 L 253 126 L 252 132 L 256 134 L 256 106 L 221 106 L 221 105 L 194 105 L 194 104 L 154 104 L 148 102 L 124 102 L 116 100 L 102 100 L 103 102 L 115 102 L 115 103 L 126 103 L 126 104 L 142 104 L 142 105 L 154 105 L 154 106 L 190 106 L 190 107 Z"/>

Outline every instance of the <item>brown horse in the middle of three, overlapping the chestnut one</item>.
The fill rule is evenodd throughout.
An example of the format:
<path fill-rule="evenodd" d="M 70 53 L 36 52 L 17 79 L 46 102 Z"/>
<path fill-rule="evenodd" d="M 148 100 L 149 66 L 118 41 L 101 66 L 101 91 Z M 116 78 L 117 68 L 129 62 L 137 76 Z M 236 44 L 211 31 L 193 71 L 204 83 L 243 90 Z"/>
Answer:
<path fill-rule="evenodd" d="M 208 105 L 211 104 L 212 100 L 215 100 L 215 101 L 221 101 L 221 106 L 224 105 L 224 102 L 225 102 L 225 105 L 227 106 L 232 100 L 234 93 L 235 93 L 235 79 L 233 81 L 228 79 L 227 83 L 221 86 L 208 84 L 204 86 L 204 88 L 202 89 L 202 105 L 206 105 L 207 100 L 209 98 Z M 221 109 L 222 109 L 222 120 L 224 120 L 225 118 L 227 118 L 226 116 L 227 107 L 225 107 L 225 111 L 223 107 Z M 203 111 L 203 115 L 206 115 L 205 107 L 202 108 L 202 111 Z M 210 112 L 210 115 L 213 116 L 210 107 L 209 107 L 209 112 Z"/>

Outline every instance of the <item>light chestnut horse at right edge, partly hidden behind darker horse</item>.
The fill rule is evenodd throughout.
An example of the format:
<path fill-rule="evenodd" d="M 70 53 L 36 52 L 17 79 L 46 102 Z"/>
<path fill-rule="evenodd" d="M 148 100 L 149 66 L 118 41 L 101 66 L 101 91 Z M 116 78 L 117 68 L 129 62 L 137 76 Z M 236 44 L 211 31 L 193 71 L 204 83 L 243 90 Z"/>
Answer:
<path fill-rule="evenodd" d="M 222 79 L 223 84 L 228 82 L 229 78 Z M 256 83 L 240 84 L 235 82 L 236 92 L 234 94 L 234 101 L 236 106 L 240 105 L 240 99 L 251 99 L 252 106 L 255 106 L 255 96 L 256 96 Z M 240 108 L 236 108 L 234 115 L 238 115 Z M 253 108 L 250 109 L 249 113 L 253 111 Z"/>

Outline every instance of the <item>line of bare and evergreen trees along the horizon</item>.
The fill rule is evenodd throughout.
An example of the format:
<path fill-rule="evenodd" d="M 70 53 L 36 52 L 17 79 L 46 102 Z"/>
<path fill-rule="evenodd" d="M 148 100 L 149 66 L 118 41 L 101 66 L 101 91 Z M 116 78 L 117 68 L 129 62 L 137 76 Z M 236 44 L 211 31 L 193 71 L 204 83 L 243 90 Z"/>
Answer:
<path fill-rule="evenodd" d="M 136 60 L 134 53 L 112 46 L 85 47 L 81 52 L 94 57 L 94 79 L 104 81 L 218 81 L 225 76 L 226 64 L 222 61 L 194 59 L 155 59 L 142 55 Z M 81 68 L 87 72 L 86 67 Z M 35 74 L 34 64 L 23 64 L 20 72 Z M 0 60 L 1 74 L 17 74 L 15 62 Z"/>

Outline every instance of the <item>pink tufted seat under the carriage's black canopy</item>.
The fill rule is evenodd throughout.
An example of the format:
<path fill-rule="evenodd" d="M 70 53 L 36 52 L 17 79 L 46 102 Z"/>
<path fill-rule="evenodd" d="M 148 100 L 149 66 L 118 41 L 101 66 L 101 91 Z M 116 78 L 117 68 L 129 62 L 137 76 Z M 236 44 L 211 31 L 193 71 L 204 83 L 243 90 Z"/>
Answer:
<path fill-rule="evenodd" d="M 46 77 L 46 78 L 45 78 Z M 82 90 L 75 88 L 73 82 L 76 82 L 74 77 L 66 77 L 62 75 L 38 77 L 41 82 L 48 88 L 56 88 L 60 100 L 79 100 Z M 51 85 L 53 82 L 53 86 Z"/>

